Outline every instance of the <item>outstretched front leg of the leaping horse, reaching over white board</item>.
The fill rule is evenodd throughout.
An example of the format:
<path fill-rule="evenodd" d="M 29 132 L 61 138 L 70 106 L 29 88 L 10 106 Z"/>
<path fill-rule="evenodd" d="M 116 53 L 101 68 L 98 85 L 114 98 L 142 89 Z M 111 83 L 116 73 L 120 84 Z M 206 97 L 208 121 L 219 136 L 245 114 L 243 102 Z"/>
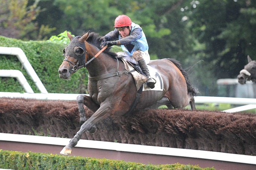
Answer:
<path fill-rule="evenodd" d="M 70 140 L 69 144 L 62 149 L 60 153 L 64 155 L 70 155 L 72 152 L 72 148 L 77 145 L 77 142 L 80 140 L 82 133 L 84 133 L 86 130 L 90 130 L 97 122 L 107 118 L 110 115 L 111 112 L 109 112 L 109 106 L 103 108 L 100 107 L 100 109 L 98 109 L 87 121 L 82 124 L 80 130 Z"/>

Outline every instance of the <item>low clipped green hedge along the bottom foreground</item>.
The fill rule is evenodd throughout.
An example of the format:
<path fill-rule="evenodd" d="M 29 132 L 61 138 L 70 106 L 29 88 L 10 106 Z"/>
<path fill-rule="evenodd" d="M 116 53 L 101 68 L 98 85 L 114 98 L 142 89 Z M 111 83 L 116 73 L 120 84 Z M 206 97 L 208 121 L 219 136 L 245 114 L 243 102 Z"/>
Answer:
<path fill-rule="evenodd" d="M 76 156 L 62 156 L 33 152 L 5 151 L 0 149 L 0 168 L 15 170 L 215 170 L 192 165 L 165 164 L 153 165 L 108 159 L 96 159 Z"/>

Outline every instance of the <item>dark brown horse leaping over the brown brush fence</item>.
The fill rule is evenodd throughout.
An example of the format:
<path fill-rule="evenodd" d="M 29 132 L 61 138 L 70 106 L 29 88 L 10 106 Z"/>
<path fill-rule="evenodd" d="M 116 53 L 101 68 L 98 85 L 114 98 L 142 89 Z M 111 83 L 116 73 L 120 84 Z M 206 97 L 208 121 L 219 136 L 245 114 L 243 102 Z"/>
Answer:
<path fill-rule="evenodd" d="M 179 61 L 170 58 L 151 60 L 148 65 L 161 75 L 163 90 L 138 93 L 133 76 L 126 71 L 117 53 L 110 51 L 111 47 L 107 46 L 105 51 L 101 52 L 102 37 L 98 33 L 88 31 L 82 36 L 73 37 L 67 32 L 67 36 L 70 43 L 63 51 L 65 58 L 58 70 L 59 77 L 70 79 L 78 69 L 86 67 L 89 74 L 89 95 L 77 97 L 82 125 L 70 143 L 62 149 L 61 154 L 70 155 L 82 133 L 96 131 L 97 122 L 108 116 L 129 116 L 127 112 L 130 108 L 133 111 L 145 109 L 159 100 L 168 99 L 167 105 L 172 108 L 184 108 L 190 104 L 191 110 L 195 110 L 194 96 L 198 91 L 192 87 L 188 74 L 182 69 Z M 133 105 L 135 98 L 137 104 Z M 166 103 L 166 100 L 164 102 Z M 94 112 L 89 119 L 85 117 L 83 104 Z"/>

